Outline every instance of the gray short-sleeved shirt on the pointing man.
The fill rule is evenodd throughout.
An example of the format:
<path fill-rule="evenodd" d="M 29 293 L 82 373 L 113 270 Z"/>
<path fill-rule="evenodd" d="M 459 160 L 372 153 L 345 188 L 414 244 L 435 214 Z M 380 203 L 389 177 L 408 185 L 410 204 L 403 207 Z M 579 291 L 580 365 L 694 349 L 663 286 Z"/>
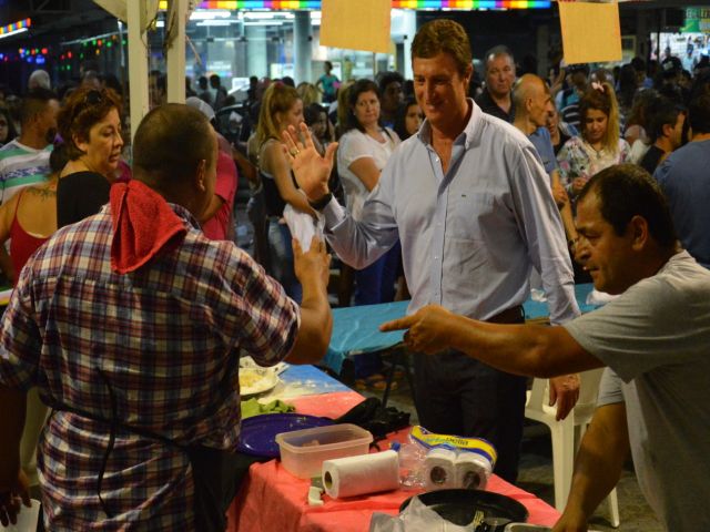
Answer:
<path fill-rule="evenodd" d="M 564 327 L 609 366 L 643 495 L 669 531 L 710 530 L 710 272 L 687 252 Z"/>

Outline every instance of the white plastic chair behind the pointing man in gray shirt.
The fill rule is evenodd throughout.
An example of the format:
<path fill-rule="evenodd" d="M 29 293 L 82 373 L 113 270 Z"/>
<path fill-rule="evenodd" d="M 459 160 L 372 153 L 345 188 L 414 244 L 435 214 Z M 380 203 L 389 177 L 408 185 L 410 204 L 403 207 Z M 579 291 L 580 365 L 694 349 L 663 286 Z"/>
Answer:
<path fill-rule="evenodd" d="M 579 400 L 562 421 L 555 420 L 557 407 L 550 407 L 548 380 L 535 379 L 528 392 L 525 417 L 545 423 L 552 438 L 552 470 L 555 477 L 555 508 L 565 510 L 572 481 L 575 453 L 594 416 L 599 381 L 604 369 L 580 374 Z M 619 501 L 616 488 L 607 497 L 611 526 L 619 526 Z"/>

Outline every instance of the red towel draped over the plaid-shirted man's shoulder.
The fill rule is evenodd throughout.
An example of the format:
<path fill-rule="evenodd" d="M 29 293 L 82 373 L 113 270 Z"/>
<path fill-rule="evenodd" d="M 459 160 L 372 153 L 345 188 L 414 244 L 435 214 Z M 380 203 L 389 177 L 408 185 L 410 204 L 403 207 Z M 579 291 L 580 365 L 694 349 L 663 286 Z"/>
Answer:
<path fill-rule="evenodd" d="M 162 250 L 182 243 L 187 228 L 163 196 L 132 180 L 111 187 L 111 267 L 119 274 L 133 272 Z"/>

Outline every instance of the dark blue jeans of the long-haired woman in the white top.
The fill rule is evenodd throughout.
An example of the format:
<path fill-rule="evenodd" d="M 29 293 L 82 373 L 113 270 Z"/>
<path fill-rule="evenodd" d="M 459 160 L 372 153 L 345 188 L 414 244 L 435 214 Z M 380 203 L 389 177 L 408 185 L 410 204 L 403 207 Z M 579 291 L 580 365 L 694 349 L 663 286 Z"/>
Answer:
<path fill-rule="evenodd" d="M 395 297 L 395 283 L 402 262 L 402 246 L 395 246 L 369 266 L 355 272 L 355 305 L 389 303 Z M 355 377 L 369 377 L 382 370 L 382 358 L 376 352 L 353 357 Z"/>

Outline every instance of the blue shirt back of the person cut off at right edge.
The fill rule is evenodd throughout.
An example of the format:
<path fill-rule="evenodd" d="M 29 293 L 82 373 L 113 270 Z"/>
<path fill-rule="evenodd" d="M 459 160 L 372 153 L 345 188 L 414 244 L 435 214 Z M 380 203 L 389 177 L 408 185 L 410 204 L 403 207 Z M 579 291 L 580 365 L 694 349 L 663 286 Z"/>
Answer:
<path fill-rule="evenodd" d="M 658 181 L 683 247 L 710 268 L 710 141 L 690 142 L 658 167 Z"/>

